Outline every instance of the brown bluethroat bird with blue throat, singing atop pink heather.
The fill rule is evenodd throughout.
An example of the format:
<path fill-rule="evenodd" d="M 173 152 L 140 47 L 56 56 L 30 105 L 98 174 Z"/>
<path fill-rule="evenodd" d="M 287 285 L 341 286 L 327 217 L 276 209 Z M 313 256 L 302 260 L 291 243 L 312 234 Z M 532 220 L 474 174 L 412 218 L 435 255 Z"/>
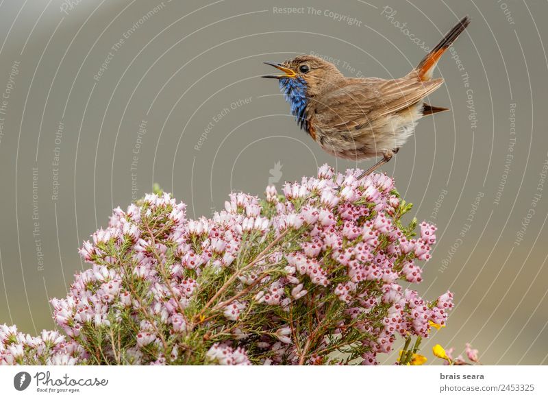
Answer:
<path fill-rule="evenodd" d="M 415 69 L 399 79 L 345 77 L 331 62 L 308 55 L 282 64 L 265 62 L 282 73 L 263 77 L 279 80 L 300 128 L 329 154 L 350 160 L 382 156 L 362 178 L 398 152 L 419 119 L 449 110 L 423 99 L 443 84 L 443 79 L 432 79 L 432 71 L 469 23 L 465 16 Z"/>

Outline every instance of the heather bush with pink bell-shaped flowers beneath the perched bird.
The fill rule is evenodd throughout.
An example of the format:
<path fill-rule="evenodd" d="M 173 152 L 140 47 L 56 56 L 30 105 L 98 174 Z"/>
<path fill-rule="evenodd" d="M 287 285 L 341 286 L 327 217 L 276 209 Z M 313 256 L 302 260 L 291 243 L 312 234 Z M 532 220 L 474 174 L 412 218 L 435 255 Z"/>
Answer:
<path fill-rule="evenodd" d="M 51 300 L 64 334 L 0 326 L 0 363 L 375 365 L 399 336 L 399 363 L 424 363 L 453 295 L 402 286 L 421 282 L 436 228 L 404 224 L 393 180 L 360 172 L 233 193 L 211 218 L 167 193 L 116 208 L 79 250 L 90 268 Z"/>

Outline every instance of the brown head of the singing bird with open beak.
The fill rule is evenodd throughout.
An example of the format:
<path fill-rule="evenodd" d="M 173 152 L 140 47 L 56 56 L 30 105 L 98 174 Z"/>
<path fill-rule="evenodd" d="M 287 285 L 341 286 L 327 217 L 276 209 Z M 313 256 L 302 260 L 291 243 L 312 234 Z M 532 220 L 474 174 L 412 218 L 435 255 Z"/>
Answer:
<path fill-rule="evenodd" d="M 279 79 L 282 89 L 287 86 L 303 85 L 306 88 L 305 95 L 307 97 L 318 95 L 326 85 L 343 77 L 334 64 L 314 56 L 303 55 L 286 60 L 281 64 L 277 62 L 265 62 L 265 64 L 274 66 L 282 73 L 263 75 L 262 77 Z"/>

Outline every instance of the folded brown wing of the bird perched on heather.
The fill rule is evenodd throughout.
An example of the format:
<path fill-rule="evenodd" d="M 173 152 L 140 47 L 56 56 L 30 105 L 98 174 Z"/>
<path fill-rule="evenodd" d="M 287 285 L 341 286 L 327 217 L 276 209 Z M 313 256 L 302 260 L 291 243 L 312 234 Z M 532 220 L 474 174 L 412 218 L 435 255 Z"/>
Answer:
<path fill-rule="evenodd" d="M 337 130 L 372 124 L 384 115 L 416 104 L 440 84 L 443 79 L 348 79 L 316 99 L 314 119 Z"/>

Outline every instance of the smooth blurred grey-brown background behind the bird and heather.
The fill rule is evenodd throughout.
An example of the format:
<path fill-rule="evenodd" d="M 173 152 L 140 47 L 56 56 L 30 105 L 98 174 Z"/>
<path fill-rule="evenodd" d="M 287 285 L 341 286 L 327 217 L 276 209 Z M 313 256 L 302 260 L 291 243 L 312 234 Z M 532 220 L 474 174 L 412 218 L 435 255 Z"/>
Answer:
<path fill-rule="evenodd" d="M 469 14 L 429 99 L 452 112 L 423 119 L 383 170 L 439 228 L 419 292 L 455 293 L 427 356 L 471 342 L 486 364 L 548 364 L 547 12 L 511 0 L 1 1 L 0 322 L 53 328 L 48 298 L 86 267 L 79 245 L 154 182 L 199 217 L 230 191 L 355 167 L 298 130 L 277 82 L 258 77 L 263 61 L 314 53 L 347 76 L 400 77 Z"/>

